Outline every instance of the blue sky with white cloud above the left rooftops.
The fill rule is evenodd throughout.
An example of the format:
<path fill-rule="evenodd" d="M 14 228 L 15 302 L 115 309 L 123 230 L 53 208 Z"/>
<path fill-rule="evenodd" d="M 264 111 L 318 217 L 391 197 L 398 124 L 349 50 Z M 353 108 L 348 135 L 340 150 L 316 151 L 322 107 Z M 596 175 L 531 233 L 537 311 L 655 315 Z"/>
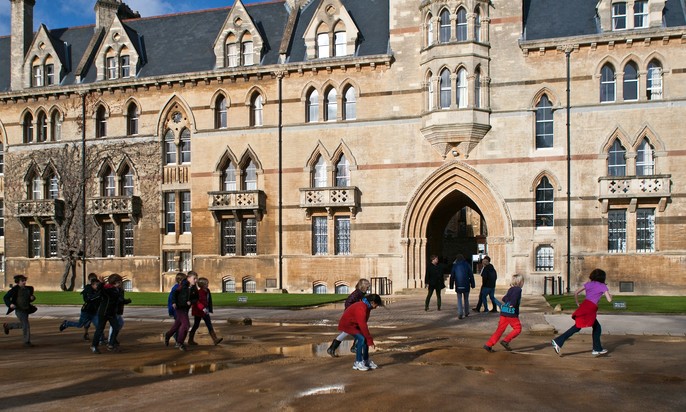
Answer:
<path fill-rule="evenodd" d="M 269 0 L 243 0 L 243 4 Z M 96 0 L 36 0 L 33 9 L 34 28 L 43 23 L 48 29 L 95 24 Z M 191 10 L 213 9 L 233 5 L 234 0 L 125 0 L 141 17 L 179 13 Z M 10 33 L 10 2 L 0 0 L 0 36 Z"/>

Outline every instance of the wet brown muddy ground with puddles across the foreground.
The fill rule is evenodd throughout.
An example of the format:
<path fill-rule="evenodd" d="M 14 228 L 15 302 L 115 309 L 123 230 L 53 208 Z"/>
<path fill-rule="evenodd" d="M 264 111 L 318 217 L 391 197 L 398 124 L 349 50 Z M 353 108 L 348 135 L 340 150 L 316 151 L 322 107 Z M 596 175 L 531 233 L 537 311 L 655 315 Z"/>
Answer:
<path fill-rule="evenodd" d="M 252 326 L 216 319 L 224 342 L 213 346 L 203 326 L 187 352 L 164 346 L 168 321 L 128 321 L 121 352 L 101 355 L 80 331 L 58 332 L 58 319 L 33 319 L 33 348 L 20 331 L 0 335 L 0 410 L 686 410 L 683 336 L 603 336 L 610 352 L 594 358 L 590 335 L 576 335 L 558 357 L 552 334 L 524 322 L 514 352 L 487 353 L 497 315 L 385 313 L 372 312 L 379 368 L 368 372 L 352 369 L 349 343 L 326 355 L 336 327 L 317 312 Z"/>

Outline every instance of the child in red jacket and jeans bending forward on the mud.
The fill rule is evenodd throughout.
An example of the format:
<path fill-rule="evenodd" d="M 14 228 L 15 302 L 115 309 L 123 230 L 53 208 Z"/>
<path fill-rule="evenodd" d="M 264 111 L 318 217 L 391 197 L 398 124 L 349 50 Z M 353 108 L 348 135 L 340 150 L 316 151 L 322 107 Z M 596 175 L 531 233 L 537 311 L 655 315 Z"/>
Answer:
<path fill-rule="evenodd" d="M 369 369 L 376 369 L 374 362 L 369 360 L 369 347 L 374 346 L 374 339 L 369 333 L 367 321 L 373 309 L 383 306 L 381 297 L 376 294 L 371 294 L 362 298 L 361 301 L 350 305 L 341 320 L 338 322 L 338 330 L 349 335 L 355 336 L 357 342 L 357 351 L 355 352 L 355 363 L 353 369 L 358 371 L 367 371 Z"/>

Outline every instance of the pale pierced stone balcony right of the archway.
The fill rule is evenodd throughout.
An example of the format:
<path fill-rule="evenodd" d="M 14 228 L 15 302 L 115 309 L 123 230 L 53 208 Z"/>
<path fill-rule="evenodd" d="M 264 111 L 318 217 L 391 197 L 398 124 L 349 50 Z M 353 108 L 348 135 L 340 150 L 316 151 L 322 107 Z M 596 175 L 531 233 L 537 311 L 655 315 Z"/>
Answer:
<path fill-rule="evenodd" d="M 652 176 L 603 176 L 598 178 L 598 200 L 603 213 L 612 202 L 628 203 L 630 211 L 636 211 L 640 199 L 657 199 L 658 210 L 664 212 L 671 197 L 672 175 Z"/>

